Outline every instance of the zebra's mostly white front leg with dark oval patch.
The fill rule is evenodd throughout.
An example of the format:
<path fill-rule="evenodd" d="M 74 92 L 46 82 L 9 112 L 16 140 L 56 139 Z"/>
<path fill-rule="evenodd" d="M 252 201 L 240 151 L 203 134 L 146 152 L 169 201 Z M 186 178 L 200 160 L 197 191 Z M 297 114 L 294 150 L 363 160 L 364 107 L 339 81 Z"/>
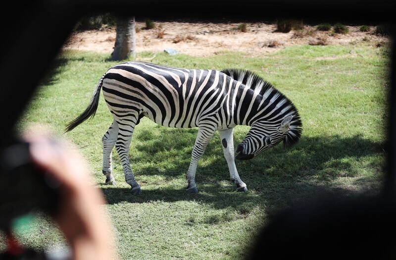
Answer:
<path fill-rule="evenodd" d="M 241 180 L 238 174 L 234 158 L 234 128 L 219 130 L 221 146 L 223 147 L 224 157 L 227 160 L 228 169 L 230 170 L 231 181 L 237 185 L 237 191 L 247 191 L 246 184 Z"/>

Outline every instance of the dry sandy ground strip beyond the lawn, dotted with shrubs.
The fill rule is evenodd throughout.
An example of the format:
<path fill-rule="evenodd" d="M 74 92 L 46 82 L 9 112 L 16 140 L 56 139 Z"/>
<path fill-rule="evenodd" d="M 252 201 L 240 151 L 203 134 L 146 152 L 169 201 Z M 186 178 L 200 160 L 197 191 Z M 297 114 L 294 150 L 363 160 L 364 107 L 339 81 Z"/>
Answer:
<path fill-rule="evenodd" d="M 275 32 L 276 25 L 265 23 L 247 24 L 247 32 L 237 30 L 238 23 L 187 23 L 155 22 L 155 28 L 142 29 L 137 33 L 137 52 L 163 52 L 166 48 L 194 56 L 208 56 L 222 51 L 246 52 L 257 56 L 276 52 L 292 45 L 304 45 L 324 41 L 327 44 L 350 44 L 366 42 L 374 46 L 388 42 L 386 37 L 360 32 L 359 26 L 347 26 L 349 33 L 334 34 L 316 31 L 313 26 L 289 33 Z M 137 22 L 137 28 L 143 28 L 143 22 Z M 319 39 L 319 40 L 318 40 Z M 111 53 L 114 47 L 115 29 L 76 32 L 71 35 L 64 49 L 86 50 Z"/>

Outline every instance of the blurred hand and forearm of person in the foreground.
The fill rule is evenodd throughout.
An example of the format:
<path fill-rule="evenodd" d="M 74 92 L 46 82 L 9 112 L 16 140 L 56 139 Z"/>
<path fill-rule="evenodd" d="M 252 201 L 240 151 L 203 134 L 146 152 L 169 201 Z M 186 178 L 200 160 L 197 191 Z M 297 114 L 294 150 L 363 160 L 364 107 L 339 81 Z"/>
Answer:
<path fill-rule="evenodd" d="M 43 131 L 27 131 L 24 139 L 31 143 L 34 162 L 61 183 L 60 205 L 54 218 L 70 243 L 73 259 L 115 259 L 111 225 L 100 207 L 105 204 L 104 198 L 78 150 Z"/>

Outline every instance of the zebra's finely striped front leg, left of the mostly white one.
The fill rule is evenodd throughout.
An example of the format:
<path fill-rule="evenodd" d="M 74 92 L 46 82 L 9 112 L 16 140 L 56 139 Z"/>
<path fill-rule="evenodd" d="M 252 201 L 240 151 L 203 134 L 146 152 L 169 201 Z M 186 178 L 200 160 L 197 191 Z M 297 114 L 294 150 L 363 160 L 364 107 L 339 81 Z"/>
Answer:
<path fill-rule="evenodd" d="M 199 127 L 198 129 L 197 139 L 195 140 L 195 145 L 191 154 L 190 167 L 187 171 L 188 186 L 186 191 L 188 193 L 198 193 L 197 184 L 195 183 L 195 174 L 197 171 L 198 161 L 205 152 L 206 145 L 209 143 L 214 132 L 215 130 L 208 128 Z"/>

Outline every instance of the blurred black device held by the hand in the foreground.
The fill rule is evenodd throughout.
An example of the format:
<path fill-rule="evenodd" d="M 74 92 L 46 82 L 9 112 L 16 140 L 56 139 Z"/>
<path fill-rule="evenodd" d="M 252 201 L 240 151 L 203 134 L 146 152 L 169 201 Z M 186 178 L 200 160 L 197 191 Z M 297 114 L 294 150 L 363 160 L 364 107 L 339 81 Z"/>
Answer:
<path fill-rule="evenodd" d="M 55 213 L 60 183 L 32 161 L 29 143 L 17 143 L 0 151 L 0 229 L 36 210 Z"/>

